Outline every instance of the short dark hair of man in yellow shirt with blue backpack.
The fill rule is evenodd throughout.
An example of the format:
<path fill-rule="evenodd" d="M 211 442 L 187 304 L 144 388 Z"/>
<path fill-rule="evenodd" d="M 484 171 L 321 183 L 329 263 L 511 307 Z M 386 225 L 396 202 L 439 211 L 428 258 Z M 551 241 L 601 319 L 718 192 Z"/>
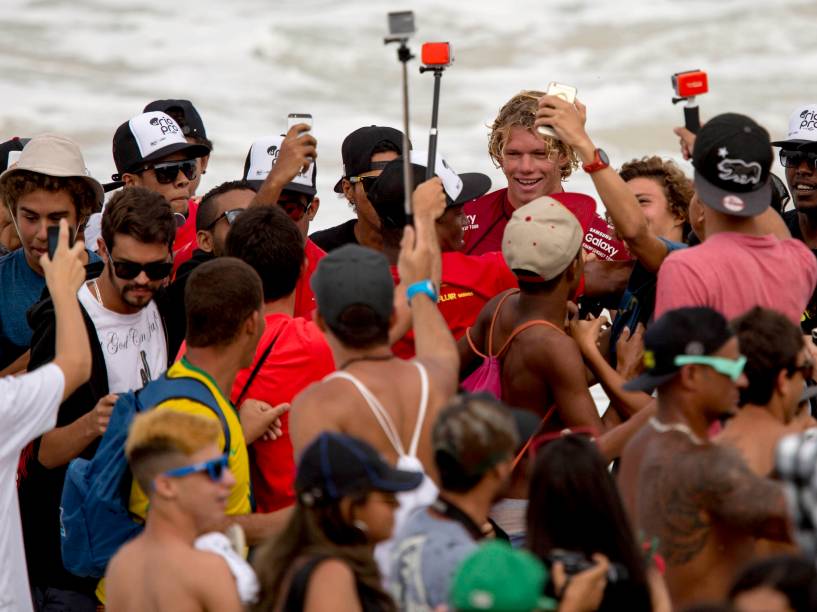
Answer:
<path fill-rule="evenodd" d="M 217 257 L 190 273 L 184 288 L 187 346 L 230 344 L 264 301 L 261 279 L 234 257 Z"/>

